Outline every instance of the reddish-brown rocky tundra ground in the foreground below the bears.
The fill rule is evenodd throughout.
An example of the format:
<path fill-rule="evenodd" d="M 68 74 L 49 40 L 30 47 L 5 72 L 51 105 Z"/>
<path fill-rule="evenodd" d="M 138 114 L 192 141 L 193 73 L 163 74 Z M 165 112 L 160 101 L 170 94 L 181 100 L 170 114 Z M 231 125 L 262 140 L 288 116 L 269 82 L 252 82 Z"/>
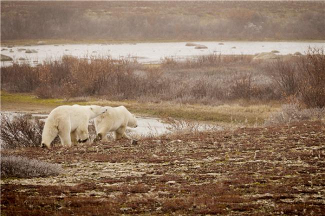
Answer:
<path fill-rule="evenodd" d="M 1 179 L 1 215 L 325 215 L 320 121 L 1 150 L 60 163 Z"/>

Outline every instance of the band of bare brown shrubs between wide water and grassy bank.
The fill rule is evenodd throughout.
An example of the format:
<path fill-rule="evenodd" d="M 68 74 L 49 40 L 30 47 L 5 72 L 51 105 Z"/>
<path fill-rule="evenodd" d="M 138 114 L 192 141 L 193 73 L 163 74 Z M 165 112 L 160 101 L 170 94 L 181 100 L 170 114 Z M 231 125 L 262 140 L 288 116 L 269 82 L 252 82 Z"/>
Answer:
<path fill-rule="evenodd" d="M 157 66 L 129 59 L 64 56 L 34 67 L 17 63 L 2 67 L 1 89 L 67 101 L 97 96 L 212 105 L 238 98 L 266 101 L 290 96 L 303 106 L 323 107 L 324 56 L 322 49 L 309 48 L 304 56 L 272 60 L 217 54 L 185 61 L 165 57 Z"/>

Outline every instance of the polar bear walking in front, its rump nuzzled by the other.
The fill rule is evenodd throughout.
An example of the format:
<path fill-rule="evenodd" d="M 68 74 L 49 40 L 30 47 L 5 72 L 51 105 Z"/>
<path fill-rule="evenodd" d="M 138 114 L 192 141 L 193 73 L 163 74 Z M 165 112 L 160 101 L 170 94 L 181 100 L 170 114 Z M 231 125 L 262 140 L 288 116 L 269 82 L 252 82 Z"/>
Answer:
<path fill-rule="evenodd" d="M 115 133 L 115 139 L 128 138 L 129 136 L 125 134 L 126 126 L 137 127 L 137 121 L 135 116 L 129 112 L 124 106 L 104 106 L 107 111 L 101 115 L 98 115 L 94 119 L 96 138 L 98 141 L 105 138 L 108 132 Z"/>

